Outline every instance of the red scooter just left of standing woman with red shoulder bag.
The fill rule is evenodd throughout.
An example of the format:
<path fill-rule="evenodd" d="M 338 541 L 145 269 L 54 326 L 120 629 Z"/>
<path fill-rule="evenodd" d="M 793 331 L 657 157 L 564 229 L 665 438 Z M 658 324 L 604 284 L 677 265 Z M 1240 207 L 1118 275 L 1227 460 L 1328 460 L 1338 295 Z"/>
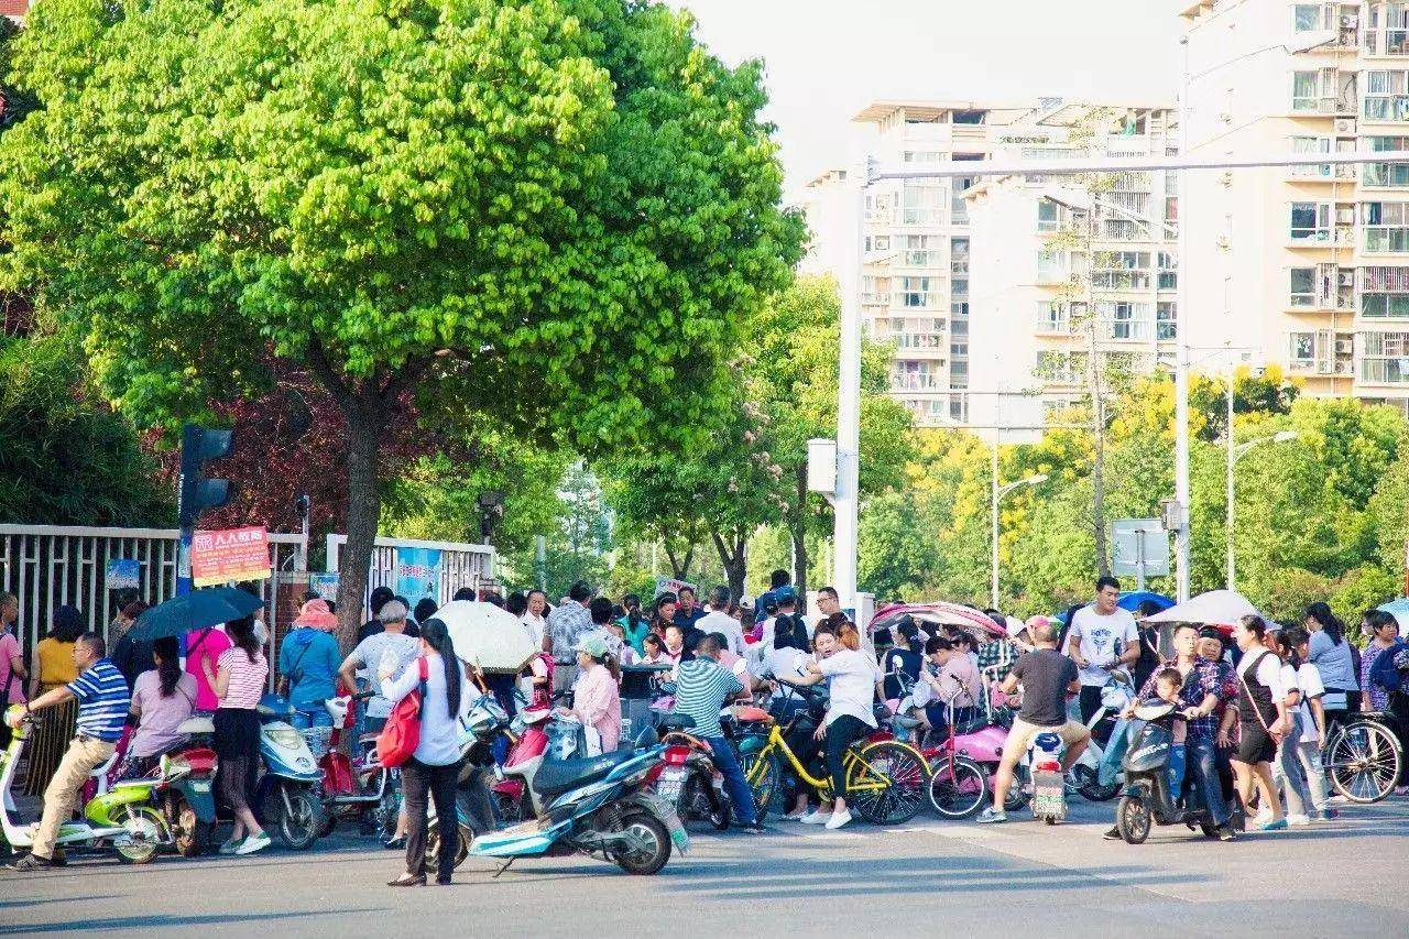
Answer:
<path fill-rule="evenodd" d="M 318 835 L 327 837 L 338 821 L 366 818 L 380 840 L 389 840 L 396 833 L 396 815 L 400 809 L 400 773 L 383 767 L 376 759 L 375 733 L 364 733 L 356 740 L 356 753 L 342 751 L 342 735 L 355 726 L 354 705 L 376 692 L 362 691 L 355 695 L 338 695 L 323 702 L 333 718 L 327 728 L 309 728 L 303 739 L 309 751 L 318 761 L 321 782 L 318 794 L 323 802 L 323 825 Z M 309 711 L 300 709 L 303 713 Z"/>

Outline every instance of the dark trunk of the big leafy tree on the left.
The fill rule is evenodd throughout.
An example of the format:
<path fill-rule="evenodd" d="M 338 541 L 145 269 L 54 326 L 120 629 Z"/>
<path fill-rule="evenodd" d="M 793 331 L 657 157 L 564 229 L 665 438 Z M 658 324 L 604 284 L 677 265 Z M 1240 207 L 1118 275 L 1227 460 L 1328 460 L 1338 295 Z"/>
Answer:
<path fill-rule="evenodd" d="M 352 649 L 362 625 L 368 574 L 376 544 L 376 524 L 382 515 L 382 489 L 378 474 L 379 415 L 362 407 L 345 410 L 348 422 L 348 530 L 347 544 L 338 558 L 338 644 Z M 375 668 L 375 664 L 372 665 Z"/>

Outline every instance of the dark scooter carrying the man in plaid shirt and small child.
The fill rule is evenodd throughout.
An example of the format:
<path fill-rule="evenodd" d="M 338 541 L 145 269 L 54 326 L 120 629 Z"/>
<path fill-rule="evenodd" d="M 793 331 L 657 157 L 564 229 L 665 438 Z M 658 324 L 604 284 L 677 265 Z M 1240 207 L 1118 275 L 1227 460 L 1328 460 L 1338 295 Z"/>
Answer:
<path fill-rule="evenodd" d="M 1217 826 L 1203 808 L 1188 809 L 1172 791 L 1169 763 L 1175 747 L 1175 705 L 1160 702 L 1136 708 L 1136 720 L 1146 722 L 1134 732 L 1122 760 L 1126 785 L 1116 805 L 1116 830 L 1127 845 L 1140 845 L 1154 825 L 1186 825 L 1206 837 L 1217 837 Z"/>

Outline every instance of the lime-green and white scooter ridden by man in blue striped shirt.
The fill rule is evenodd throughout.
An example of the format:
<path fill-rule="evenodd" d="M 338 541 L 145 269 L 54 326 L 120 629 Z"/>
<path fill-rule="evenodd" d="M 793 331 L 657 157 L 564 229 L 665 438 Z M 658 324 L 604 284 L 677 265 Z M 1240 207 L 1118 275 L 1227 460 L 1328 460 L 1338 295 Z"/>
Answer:
<path fill-rule="evenodd" d="M 7 716 L 18 718 L 21 705 L 11 705 Z M 14 728 L 10 746 L 0 753 L 0 832 L 13 850 L 34 846 L 38 823 L 18 825 L 14 821 L 17 806 L 10 795 L 20 756 L 30 739 L 34 718 L 27 716 Z M 111 761 L 108 761 L 111 763 Z M 103 774 L 108 764 L 93 770 L 92 775 Z M 163 775 L 154 778 L 123 780 L 110 790 L 89 799 L 83 805 L 83 821 L 65 822 L 59 826 L 56 845 L 65 850 L 101 850 L 113 847 L 117 856 L 128 864 L 147 864 L 156 852 L 173 843 L 166 821 L 154 804 L 154 792 L 175 780 L 180 767 L 163 761 Z M 165 775 L 166 773 L 172 775 Z"/>

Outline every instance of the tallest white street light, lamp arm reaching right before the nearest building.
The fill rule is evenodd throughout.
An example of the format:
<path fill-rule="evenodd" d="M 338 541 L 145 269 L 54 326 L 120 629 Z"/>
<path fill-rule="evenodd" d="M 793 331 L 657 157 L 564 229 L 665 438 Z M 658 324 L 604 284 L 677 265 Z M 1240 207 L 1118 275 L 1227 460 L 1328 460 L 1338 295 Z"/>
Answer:
<path fill-rule="evenodd" d="M 1264 52 L 1310 52 L 1337 39 L 1334 30 L 1312 30 L 1296 34 L 1286 42 L 1270 45 L 1262 49 L 1246 52 L 1237 58 L 1220 62 L 1198 75 L 1189 75 L 1189 37 L 1179 37 L 1179 158 L 1189 158 L 1189 83 L 1195 78 L 1202 78 L 1217 69 L 1227 68 L 1234 62 L 1262 55 Z M 1178 200 L 1179 200 L 1179 282 L 1175 295 L 1175 352 L 1174 352 L 1174 502 L 1175 519 L 1175 553 L 1178 567 L 1175 570 L 1177 599 L 1182 603 L 1189 599 L 1189 185 L 1188 172 L 1179 171 Z M 1229 440 L 1233 429 L 1229 427 Z M 1230 474 L 1231 477 L 1231 474 Z M 1229 503 L 1231 508 L 1231 502 Z M 1230 529 L 1231 530 L 1231 529 Z M 1231 558 L 1231 536 L 1229 539 L 1229 557 Z M 1231 589 L 1233 570 L 1229 565 L 1229 584 Z"/>

